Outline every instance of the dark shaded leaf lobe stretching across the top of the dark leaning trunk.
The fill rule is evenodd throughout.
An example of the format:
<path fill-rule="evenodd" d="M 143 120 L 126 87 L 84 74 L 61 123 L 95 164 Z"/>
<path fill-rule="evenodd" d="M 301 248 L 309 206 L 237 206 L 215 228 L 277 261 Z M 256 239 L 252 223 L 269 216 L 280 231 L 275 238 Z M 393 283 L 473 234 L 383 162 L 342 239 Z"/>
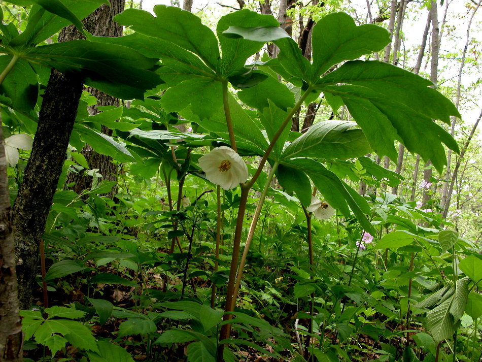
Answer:
<path fill-rule="evenodd" d="M 157 59 L 120 45 L 73 40 L 35 47 L 21 57 L 62 73 L 79 73 L 89 86 L 123 99 L 142 99 L 146 90 L 162 83 L 151 71 Z"/>

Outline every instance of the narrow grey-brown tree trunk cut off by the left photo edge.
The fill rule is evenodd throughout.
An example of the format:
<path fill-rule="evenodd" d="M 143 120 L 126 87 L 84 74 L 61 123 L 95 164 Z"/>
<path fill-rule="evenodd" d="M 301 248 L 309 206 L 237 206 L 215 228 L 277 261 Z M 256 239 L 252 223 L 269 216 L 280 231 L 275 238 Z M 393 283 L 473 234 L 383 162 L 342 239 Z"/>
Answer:
<path fill-rule="evenodd" d="M 0 113 L 0 362 L 21 362 L 22 323 L 18 314 L 13 214 L 1 117 Z"/>

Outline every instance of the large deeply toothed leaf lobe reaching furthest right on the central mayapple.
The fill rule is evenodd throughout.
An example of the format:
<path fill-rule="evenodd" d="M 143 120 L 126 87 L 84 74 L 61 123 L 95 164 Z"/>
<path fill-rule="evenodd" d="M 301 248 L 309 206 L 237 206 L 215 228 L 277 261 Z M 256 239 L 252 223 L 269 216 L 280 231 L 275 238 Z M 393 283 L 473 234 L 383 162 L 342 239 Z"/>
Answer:
<path fill-rule="evenodd" d="M 375 152 L 395 161 L 394 141 L 398 140 L 441 171 L 446 163 L 442 143 L 456 152 L 459 148 L 432 118 L 447 121 L 459 113 L 449 100 L 429 88 L 430 84 L 390 64 L 349 61 L 323 77 L 317 87 L 342 98 Z M 423 106 L 425 100 L 430 106 Z"/>

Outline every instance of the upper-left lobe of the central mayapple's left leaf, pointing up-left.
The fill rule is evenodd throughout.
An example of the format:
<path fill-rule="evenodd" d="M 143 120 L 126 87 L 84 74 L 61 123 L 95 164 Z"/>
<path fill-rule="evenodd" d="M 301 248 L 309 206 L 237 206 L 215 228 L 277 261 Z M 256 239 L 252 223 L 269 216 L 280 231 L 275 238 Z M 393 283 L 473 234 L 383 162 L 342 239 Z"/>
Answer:
<path fill-rule="evenodd" d="M 211 29 L 194 14 L 178 7 L 156 5 L 155 17 L 143 10 L 126 9 L 114 20 L 141 34 L 160 38 L 184 48 L 202 59 L 210 69 L 219 62 L 218 41 Z"/>

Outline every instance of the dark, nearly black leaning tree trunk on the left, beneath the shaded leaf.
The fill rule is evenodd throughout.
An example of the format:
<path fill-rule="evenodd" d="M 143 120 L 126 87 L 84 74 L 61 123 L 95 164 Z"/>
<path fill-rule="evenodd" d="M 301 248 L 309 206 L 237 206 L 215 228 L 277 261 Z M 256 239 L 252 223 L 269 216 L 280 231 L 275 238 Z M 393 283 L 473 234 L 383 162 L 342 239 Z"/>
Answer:
<path fill-rule="evenodd" d="M 72 28 L 64 28 L 59 34 L 59 42 L 76 39 L 74 35 Z M 62 172 L 82 87 L 81 79 L 52 70 L 43 96 L 32 151 L 14 205 L 14 240 L 21 309 L 28 309 L 31 305 L 40 239 Z"/>

